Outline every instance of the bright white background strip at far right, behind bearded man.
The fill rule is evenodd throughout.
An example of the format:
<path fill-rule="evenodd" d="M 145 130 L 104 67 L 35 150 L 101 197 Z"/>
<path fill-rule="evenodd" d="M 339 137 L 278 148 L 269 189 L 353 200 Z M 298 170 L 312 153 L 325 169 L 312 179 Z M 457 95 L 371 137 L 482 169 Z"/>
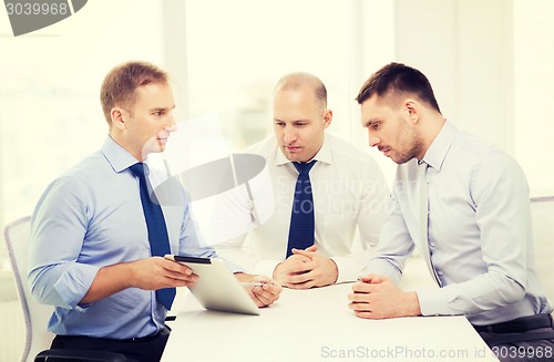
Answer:
<path fill-rule="evenodd" d="M 513 13 L 515 155 L 532 193 L 554 195 L 554 1 L 516 0 Z"/>

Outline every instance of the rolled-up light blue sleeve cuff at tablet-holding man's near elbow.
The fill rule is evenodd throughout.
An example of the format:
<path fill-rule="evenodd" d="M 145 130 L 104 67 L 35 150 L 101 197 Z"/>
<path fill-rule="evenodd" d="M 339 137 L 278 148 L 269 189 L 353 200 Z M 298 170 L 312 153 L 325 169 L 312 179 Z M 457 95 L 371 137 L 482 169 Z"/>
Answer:
<path fill-rule="evenodd" d="M 84 311 L 92 306 L 92 303 L 78 304 L 91 289 L 99 270 L 100 267 L 85 263 L 75 262 L 69 266 L 54 285 L 55 291 L 64 303 L 64 306 L 60 307 Z"/>

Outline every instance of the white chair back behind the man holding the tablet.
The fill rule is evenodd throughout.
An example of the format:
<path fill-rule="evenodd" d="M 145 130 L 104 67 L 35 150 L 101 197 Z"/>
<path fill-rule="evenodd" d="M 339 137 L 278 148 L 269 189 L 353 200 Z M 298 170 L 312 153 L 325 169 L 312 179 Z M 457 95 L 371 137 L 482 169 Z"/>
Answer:
<path fill-rule="evenodd" d="M 4 236 L 25 323 L 25 343 L 21 362 L 29 362 L 33 361 L 40 351 L 48 350 L 52 343 L 54 334 L 49 332 L 47 327 L 53 307 L 39 303 L 29 289 L 27 267 L 31 241 L 31 217 L 22 217 L 6 226 Z"/>

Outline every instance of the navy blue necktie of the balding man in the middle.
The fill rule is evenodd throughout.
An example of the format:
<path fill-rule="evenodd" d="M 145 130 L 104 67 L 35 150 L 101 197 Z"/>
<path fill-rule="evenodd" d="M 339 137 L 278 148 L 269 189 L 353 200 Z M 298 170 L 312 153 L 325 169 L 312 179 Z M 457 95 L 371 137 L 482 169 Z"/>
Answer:
<path fill-rule="evenodd" d="M 298 179 L 295 187 L 295 199 L 290 214 L 290 229 L 288 231 L 287 258 L 293 255 L 293 248 L 306 249 L 314 245 L 315 240 L 315 217 L 314 198 L 311 196 L 311 183 L 309 172 L 316 164 L 312 159 L 309 163 L 293 163 L 298 169 Z"/>

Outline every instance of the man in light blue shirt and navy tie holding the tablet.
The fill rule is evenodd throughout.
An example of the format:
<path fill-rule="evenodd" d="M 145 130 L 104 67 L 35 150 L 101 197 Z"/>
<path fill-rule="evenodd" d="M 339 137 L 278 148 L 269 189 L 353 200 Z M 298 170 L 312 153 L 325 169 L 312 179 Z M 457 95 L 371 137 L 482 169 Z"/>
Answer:
<path fill-rule="evenodd" d="M 55 307 L 49 323 L 57 334 L 53 348 L 106 350 L 130 361 L 156 361 L 168 330 L 167 310 L 154 291 L 193 286 L 197 276 L 178 262 L 152 256 L 140 182 L 129 167 L 163 152 L 176 131 L 173 93 L 165 72 L 129 62 L 106 75 L 101 101 L 109 124 L 102 148 L 54 180 L 33 213 L 29 281 L 39 301 Z M 163 178 L 145 168 L 152 183 Z M 175 197 L 181 201 L 161 205 L 171 252 L 216 257 L 203 247 L 178 185 Z M 260 280 L 229 267 L 242 281 Z M 249 293 L 265 307 L 280 290 L 267 283 Z"/>

